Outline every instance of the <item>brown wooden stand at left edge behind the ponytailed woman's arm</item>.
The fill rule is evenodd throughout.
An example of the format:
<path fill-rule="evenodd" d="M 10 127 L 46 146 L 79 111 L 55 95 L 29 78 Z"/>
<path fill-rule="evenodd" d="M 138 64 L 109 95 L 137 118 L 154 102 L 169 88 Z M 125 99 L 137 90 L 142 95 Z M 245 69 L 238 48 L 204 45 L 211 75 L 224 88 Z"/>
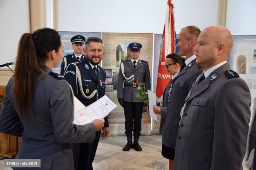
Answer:
<path fill-rule="evenodd" d="M 0 105 L 5 95 L 5 88 L 6 86 L 0 86 Z M 0 157 L 14 158 L 20 148 L 20 141 L 21 137 L 0 133 Z"/>

